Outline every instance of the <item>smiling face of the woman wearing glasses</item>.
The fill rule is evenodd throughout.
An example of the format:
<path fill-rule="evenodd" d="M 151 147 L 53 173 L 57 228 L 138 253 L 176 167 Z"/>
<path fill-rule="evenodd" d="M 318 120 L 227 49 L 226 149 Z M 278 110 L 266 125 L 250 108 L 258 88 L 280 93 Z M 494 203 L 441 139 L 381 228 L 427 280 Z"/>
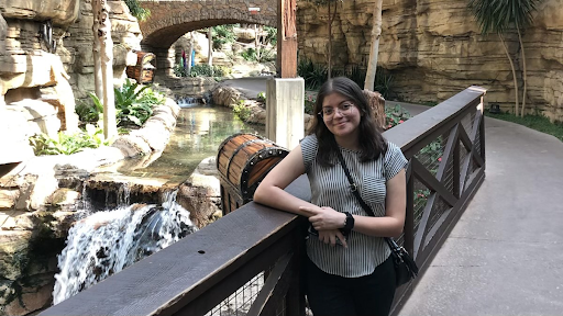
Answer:
<path fill-rule="evenodd" d="M 357 126 L 362 119 L 360 109 L 344 95 L 336 92 L 327 94 L 320 113 L 335 137 L 357 136 Z"/>

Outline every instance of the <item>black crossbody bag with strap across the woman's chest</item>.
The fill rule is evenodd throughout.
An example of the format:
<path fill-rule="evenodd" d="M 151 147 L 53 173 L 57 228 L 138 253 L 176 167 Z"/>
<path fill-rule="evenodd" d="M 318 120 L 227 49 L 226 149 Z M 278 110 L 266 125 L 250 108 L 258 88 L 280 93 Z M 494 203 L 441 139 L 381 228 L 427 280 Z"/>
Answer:
<path fill-rule="evenodd" d="M 364 202 L 362 196 L 360 195 L 360 192 L 357 192 L 357 185 L 352 180 L 352 176 L 350 176 L 350 170 L 347 170 L 346 163 L 344 162 L 344 158 L 342 157 L 342 153 L 340 150 L 336 151 L 338 157 L 340 160 L 340 165 L 342 165 L 342 168 L 344 169 L 344 173 L 346 173 L 347 181 L 350 182 L 350 189 L 352 190 L 352 193 L 354 196 L 356 196 L 357 202 L 360 202 L 360 205 L 362 205 L 362 208 L 369 215 L 375 217 L 374 211 Z M 400 285 L 409 282 L 410 280 L 415 279 L 418 274 L 418 267 L 417 262 L 410 257 L 409 252 L 404 247 L 399 247 L 397 242 L 393 238 L 384 237 L 385 241 L 387 241 L 387 245 L 389 245 L 389 248 L 391 249 L 391 258 L 393 263 L 395 264 L 395 283 L 396 286 L 399 287 Z"/>

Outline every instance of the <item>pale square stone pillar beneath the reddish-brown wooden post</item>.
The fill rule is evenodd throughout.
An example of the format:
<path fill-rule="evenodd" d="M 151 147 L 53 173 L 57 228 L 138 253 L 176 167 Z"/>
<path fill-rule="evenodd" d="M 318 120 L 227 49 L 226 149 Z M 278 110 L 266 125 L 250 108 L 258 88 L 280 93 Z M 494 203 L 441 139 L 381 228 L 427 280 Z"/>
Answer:
<path fill-rule="evenodd" d="M 272 78 L 266 83 L 266 137 L 294 149 L 303 138 L 305 80 Z"/>

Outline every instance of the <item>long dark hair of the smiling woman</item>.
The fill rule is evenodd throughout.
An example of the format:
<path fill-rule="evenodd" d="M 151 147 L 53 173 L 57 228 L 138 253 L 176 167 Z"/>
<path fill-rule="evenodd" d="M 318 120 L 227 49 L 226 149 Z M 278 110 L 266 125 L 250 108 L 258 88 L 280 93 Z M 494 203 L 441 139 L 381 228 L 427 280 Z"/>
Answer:
<path fill-rule="evenodd" d="M 354 103 L 360 110 L 360 128 L 358 144 L 362 150 L 360 156 L 361 161 L 376 160 L 379 155 L 385 155 L 387 151 L 387 142 L 382 135 L 382 131 L 372 119 L 372 109 L 367 105 L 367 99 L 362 89 L 351 79 L 346 77 L 336 77 L 328 80 L 322 84 L 317 94 L 317 102 L 314 103 L 314 113 L 322 110 L 322 102 L 324 98 L 331 93 L 339 93 Z M 319 114 L 313 116 L 313 122 L 307 132 L 307 135 L 314 134 L 319 140 L 319 151 L 317 154 L 317 161 L 321 166 L 333 166 L 335 161 L 335 154 L 339 149 L 334 135 L 329 131 L 322 117 Z"/>

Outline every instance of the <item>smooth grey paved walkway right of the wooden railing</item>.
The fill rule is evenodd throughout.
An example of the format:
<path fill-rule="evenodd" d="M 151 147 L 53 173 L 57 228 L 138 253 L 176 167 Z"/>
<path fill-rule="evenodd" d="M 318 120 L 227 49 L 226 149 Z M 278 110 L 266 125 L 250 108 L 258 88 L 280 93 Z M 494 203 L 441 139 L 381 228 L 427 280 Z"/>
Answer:
<path fill-rule="evenodd" d="M 485 181 L 400 316 L 563 315 L 563 143 L 489 117 L 485 140 Z"/>

